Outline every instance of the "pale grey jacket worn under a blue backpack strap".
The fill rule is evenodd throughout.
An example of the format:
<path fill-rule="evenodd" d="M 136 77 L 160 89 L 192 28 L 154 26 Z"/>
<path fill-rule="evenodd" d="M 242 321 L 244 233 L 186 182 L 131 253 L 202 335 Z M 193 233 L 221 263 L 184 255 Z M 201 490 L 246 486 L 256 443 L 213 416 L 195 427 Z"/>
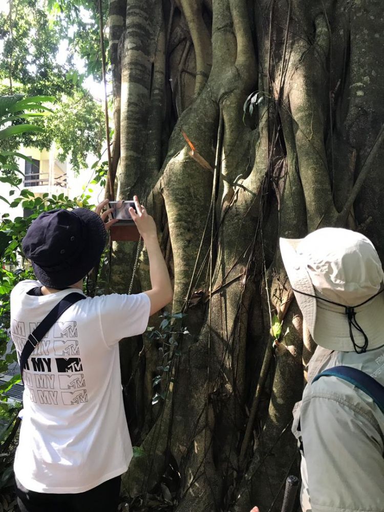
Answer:
<path fill-rule="evenodd" d="M 303 511 L 384 512 L 384 414 L 373 400 L 337 377 L 315 375 L 346 365 L 384 385 L 384 345 L 365 354 L 317 347 L 308 385 L 293 410 L 292 432 L 302 436 Z M 300 417 L 300 430 L 298 419 Z"/>

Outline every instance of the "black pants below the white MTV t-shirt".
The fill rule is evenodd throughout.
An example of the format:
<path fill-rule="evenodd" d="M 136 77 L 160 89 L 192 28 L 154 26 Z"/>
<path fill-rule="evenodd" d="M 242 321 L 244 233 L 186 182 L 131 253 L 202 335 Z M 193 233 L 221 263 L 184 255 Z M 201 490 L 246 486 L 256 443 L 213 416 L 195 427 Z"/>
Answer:
<path fill-rule="evenodd" d="M 46 494 L 28 490 L 16 479 L 20 512 L 116 512 L 121 477 L 77 494 Z"/>

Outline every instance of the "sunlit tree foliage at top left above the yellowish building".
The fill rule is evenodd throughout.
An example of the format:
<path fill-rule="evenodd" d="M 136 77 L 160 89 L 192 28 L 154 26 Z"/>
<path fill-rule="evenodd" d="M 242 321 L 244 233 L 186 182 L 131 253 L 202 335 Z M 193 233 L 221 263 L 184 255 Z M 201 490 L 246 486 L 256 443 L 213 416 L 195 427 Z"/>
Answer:
<path fill-rule="evenodd" d="M 12 0 L 9 5 L 9 13 L 0 12 L 0 94 L 55 97 L 55 116 L 34 118 L 39 133 L 27 134 L 24 145 L 42 150 L 55 142 L 59 159 L 70 157 L 78 171 L 87 154 L 100 156 L 104 138 L 101 104 L 83 85 L 87 75 L 98 81 L 101 76 L 93 2 Z M 98 60 L 89 61 L 91 55 Z"/>

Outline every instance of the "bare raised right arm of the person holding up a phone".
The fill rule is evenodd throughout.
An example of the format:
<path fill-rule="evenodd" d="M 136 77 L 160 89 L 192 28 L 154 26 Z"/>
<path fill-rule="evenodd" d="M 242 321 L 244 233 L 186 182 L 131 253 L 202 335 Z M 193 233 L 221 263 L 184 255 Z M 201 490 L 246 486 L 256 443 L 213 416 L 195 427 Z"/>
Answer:
<path fill-rule="evenodd" d="M 144 240 L 144 244 L 148 252 L 148 258 L 150 260 L 152 289 L 147 290 L 144 293 L 150 297 L 150 314 L 153 315 L 172 301 L 173 290 L 172 285 L 170 284 L 168 269 L 157 239 L 155 221 L 147 214 L 145 208 L 140 204 L 137 196 L 134 196 L 134 201 L 137 213 L 133 208 L 130 208 L 130 214 Z"/>

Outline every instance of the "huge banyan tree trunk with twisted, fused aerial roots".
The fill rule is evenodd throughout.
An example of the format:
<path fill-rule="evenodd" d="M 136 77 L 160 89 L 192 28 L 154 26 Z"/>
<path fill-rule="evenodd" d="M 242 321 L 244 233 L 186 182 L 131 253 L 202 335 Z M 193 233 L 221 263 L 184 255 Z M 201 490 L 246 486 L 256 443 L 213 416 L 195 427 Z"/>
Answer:
<path fill-rule="evenodd" d="M 154 317 L 121 344 L 139 446 L 124 490 L 145 510 L 278 510 L 298 471 L 314 343 L 279 237 L 344 226 L 383 255 L 383 15 L 381 0 L 110 0 L 116 193 L 154 216 L 189 331 Z M 114 290 L 135 255 L 115 243 Z"/>

